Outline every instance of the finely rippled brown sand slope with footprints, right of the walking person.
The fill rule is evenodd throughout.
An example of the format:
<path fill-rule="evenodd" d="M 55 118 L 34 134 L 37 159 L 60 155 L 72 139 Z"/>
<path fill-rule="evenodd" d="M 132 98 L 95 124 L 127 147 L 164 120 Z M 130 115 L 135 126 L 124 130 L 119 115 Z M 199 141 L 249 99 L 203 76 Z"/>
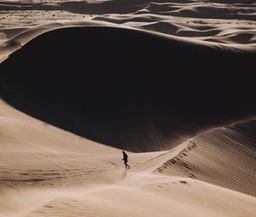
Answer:
<path fill-rule="evenodd" d="M 255 123 L 251 120 L 199 134 L 155 172 L 204 180 L 255 197 Z"/>

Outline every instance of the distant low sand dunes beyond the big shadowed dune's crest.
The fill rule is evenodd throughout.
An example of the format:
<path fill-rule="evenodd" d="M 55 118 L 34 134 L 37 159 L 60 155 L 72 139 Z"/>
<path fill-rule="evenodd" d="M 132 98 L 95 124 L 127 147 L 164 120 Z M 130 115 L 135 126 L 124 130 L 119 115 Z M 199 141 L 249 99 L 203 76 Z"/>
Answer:
<path fill-rule="evenodd" d="M 32 26 L 63 20 L 105 20 L 177 37 L 224 44 L 254 44 L 253 1 L 1 1 L 1 39 Z"/>

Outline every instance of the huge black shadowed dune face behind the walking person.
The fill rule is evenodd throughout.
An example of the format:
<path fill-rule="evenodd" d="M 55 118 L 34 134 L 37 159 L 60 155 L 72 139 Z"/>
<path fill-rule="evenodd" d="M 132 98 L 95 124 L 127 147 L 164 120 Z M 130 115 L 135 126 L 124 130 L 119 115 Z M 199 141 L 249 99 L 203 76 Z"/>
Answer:
<path fill-rule="evenodd" d="M 44 33 L 0 65 L 4 100 L 132 151 L 254 115 L 256 54 L 110 27 Z"/>

